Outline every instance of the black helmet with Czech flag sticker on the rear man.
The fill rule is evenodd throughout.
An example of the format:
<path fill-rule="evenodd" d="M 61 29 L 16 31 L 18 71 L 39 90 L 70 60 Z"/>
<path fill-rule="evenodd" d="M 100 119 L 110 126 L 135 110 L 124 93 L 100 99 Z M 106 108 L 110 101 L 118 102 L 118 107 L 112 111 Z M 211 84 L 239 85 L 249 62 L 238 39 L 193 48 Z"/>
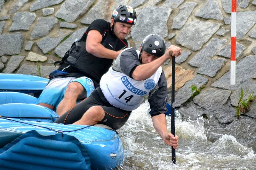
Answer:
<path fill-rule="evenodd" d="M 112 13 L 114 21 L 135 25 L 137 14 L 131 6 L 120 5 Z"/>

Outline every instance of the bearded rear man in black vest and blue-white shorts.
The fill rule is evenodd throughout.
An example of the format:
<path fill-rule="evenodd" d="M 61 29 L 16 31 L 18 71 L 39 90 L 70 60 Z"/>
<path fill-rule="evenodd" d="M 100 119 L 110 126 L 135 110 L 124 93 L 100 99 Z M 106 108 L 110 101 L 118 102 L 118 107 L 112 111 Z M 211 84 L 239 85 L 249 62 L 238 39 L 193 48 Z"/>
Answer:
<path fill-rule="evenodd" d="M 37 104 L 56 109 L 59 115 L 76 105 L 77 99 L 88 97 L 108 71 L 113 59 L 127 48 L 126 35 L 137 20 L 136 12 L 126 5 L 118 6 L 110 23 L 94 20 L 81 39 L 62 58 L 60 67 L 50 74 L 50 82 Z"/>

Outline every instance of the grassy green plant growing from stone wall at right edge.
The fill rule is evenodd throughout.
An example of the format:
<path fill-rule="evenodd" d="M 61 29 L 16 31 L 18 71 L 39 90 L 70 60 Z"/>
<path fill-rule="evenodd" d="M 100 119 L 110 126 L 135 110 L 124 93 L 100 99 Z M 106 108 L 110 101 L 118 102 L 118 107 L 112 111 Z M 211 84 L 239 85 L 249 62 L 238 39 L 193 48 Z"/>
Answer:
<path fill-rule="evenodd" d="M 240 90 L 239 100 L 238 100 L 238 104 L 236 107 L 236 117 L 237 118 L 240 117 L 241 112 L 246 113 L 247 110 L 249 109 L 251 103 L 254 101 L 254 99 L 256 99 L 256 96 L 253 95 L 252 92 L 248 95 L 248 98 L 245 99 L 244 97 L 246 96 L 247 92 L 248 91 L 245 91 L 245 93 L 244 93 L 244 90 L 242 88 Z"/>

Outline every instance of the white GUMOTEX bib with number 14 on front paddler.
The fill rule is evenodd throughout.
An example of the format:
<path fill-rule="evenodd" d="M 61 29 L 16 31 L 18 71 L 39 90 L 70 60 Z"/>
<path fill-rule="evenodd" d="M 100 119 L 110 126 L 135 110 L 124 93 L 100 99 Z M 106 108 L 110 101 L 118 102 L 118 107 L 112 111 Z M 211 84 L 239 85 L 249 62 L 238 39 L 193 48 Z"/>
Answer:
<path fill-rule="evenodd" d="M 100 80 L 100 89 L 110 104 L 123 110 L 135 110 L 154 89 L 162 73 L 159 67 L 155 74 L 143 81 L 135 81 L 112 67 Z"/>

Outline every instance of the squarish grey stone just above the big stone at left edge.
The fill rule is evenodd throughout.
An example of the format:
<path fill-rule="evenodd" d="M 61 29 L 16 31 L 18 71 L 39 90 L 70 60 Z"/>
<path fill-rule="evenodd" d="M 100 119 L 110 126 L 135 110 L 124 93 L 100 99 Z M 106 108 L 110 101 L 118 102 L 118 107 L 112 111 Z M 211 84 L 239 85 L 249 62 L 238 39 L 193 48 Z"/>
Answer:
<path fill-rule="evenodd" d="M 17 12 L 12 18 L 13 23 L 9 31 L 28 31 L 35 19 L 35 13 Z"/>

